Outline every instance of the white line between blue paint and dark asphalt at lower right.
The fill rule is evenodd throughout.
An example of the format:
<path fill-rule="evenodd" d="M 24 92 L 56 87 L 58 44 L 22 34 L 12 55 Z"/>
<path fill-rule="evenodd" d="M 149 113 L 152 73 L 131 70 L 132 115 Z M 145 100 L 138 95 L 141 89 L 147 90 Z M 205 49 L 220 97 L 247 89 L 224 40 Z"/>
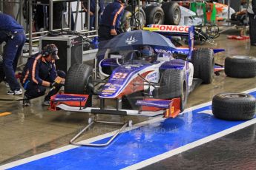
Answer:
<path fill-rule="evenodd" d="M 252 124 L 255 124 L 256 123 L 256 118 L 252 119 L 252 120 L 249 120 L 249 121 L 246 121 L 245 123 L 241 123 L 237 126 L 234 126 L 232 128 L 229 128 L 229 129 L 226 129 L 226 130 L 223 130 L 221 132 L 218 132 L 214 135 L 211 135 L 209 137 L 204 137 L 203 139 L 200 139 L 200 140 L 197 140 L 197 141 L 194 141 L 193 143 L 189 143 L 185 146 L 181 146 L 177 149 L 174 149 L 174 150 L 171 150 L 170 152 L 165 152 L 163 154 L 160 154 L 160 155 L 157 155 L 156 157 L 151 157 L 150 159 L 148 160 L 144 160 L 140 163 L 136 163 L 132 166 L 128 166 L 126 167 L 125 169 L 141 169 L 145 166 L 149 166 L 153 163 L 157 163 L 159 162 L 160 160 L 164 160 L 168 157 L 171 157 L 171 156 L 174 156 L 175 154 L 180 154 L 181 152 L 186 152 L 188 151 L 189 149 L 193 149 L 197 146 L 200 146 L 200 145 L 203 145 L 204 143 L 208 143 L 210 142 L 211 140 L 215 140 L 217 138 L 220 138 L 220 137 L 223 137 L 225 135 L 229 135 L 231 134 L 232 132 L 236 132 L 237 130 L 240 130 L 240 129 L 243 129 L 247 126 L 250 126 Z"/>

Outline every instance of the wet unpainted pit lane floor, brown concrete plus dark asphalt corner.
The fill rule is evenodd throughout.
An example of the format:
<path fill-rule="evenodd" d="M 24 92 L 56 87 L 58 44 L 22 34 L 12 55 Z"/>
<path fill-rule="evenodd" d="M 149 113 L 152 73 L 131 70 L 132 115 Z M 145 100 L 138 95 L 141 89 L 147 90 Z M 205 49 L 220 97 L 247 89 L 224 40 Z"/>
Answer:
<path fill-rule="evenodd" d="M 217 43 L 217 47 L 226 49 L 226 52 L 217 55 L 220 64 L 223 63 L 223 56 L 255 55 L 256 53 L 256 48 L 250 47 L 249 42 L 227 40 L 226 35 L 221 35 L 217 39 Z M 195 89 L 189 95 L 187 107 L 211 101 L 212 96 L 218 92 L 243 92 L 247 89 L 255 88 L 255 84 L 256 78 L 227 78 L 222 72 L 220 76 L 215 76 L 213 84 L 202 85 Z M 0 84 L 0 98 L 10 98 L 10 96 L 4 95 L 4 92 L 4 84 Z M 46 107 L 41 106 L 41 103 L 42 98 L 34 100 L 32 106 L 27 108 L 23 108 L 20 102 L 0 103 L 1 112 L 11 113 L 10 115 L 0 117 L 0 165 L 66 146 L 68 140 L 84 126 L 86 118 L 88 118 L 88 115 L 80 113 L 49 112 Z M 108 116 L 106 118 L 119 120 L 118 117 Z M 131 119 L 134 120 L 134 123 L 148 120 L 148 118 L 137 117 L 131 117 Z M 167 121 L 169 122 L 170 120 Z M 255 167 L 254 128 L 255 125 L 249 126 L 246 129 L 234 132 L 231 135 L 145 168 L 229 169 L 241 167 L 241 165 L 246 163 L 249 166 Z M 93 128 L 91 132 L 85 135 L 85 138 L 105 134 L 114 129 L 116 129 L 116 126 L 96 126 L 96 128 Z M 241 135 L 243 138 L 240 137 Z M 236 159 L 232 159 L 232 157 Z M 108 162 L 110 160 L 103 159 L 100 161 Z M 116 161 L 118 161 L 117 158 Z M 202 166 L 200 166 L 201 164 Z M 232 166 L 223 166 L 225 164 Z M 222 166 L 220 167 L 220 165 Z"/>

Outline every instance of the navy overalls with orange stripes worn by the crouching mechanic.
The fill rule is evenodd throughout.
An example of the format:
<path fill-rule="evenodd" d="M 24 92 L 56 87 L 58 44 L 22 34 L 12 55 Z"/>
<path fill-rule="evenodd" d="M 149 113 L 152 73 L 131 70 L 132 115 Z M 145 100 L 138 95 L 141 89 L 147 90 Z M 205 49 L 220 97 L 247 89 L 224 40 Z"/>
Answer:
<path fill-rule="evenodd" d="M 46 61 L 40 53 L 32 55 L 27 59 L 27 64 L 22 72 L 20 81 L 22 86 L 26 90 L 24 95 L 28 99 L 37 98 L 39 96 L 45 95 L 46 85 L 48 82 L 53 83 L 57 76 L 65 78 L 65 72 L 57 70 L 55 63 Z M 50 96 L 55 95 L 59 92 L 61 86 L 50 90 L 50 92 L 45 96 L 45 101 L 50 100 Z"/>

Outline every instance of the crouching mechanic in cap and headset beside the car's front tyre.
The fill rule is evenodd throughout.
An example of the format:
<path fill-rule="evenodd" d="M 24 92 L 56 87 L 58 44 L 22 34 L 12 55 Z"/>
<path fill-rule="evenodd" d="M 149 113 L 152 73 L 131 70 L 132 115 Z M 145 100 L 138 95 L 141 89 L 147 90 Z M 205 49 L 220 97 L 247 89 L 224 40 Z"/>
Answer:
<path fill-rule="evenodd" d="M 24 106 L 30 105 L 30 99 L 45 95 L 47 87 L 50 92 L 45 96 L 43 105 L 50 105 L 50 97 L 59 92 L 60 81 L 65 81 L 65 72 L 57 70 L 55 60 L 59 60 L 58 48 L 54 44 L 47 44 L 42 52 L 32 55 L 27 59 L 27 64 L 22 72 L 21 83 L 24 92 Z"/>

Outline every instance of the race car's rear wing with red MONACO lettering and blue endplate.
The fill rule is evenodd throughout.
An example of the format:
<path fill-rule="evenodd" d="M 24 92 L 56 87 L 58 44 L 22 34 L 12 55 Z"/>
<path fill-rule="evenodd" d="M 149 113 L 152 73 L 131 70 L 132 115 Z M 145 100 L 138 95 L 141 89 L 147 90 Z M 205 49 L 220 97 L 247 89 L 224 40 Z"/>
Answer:
<path fill-rule="evenodd" d="M 194 26 L 151 24 L 148 27 L 144 27 L 143 30 L 154 31 L 166 37 L 188 36 L 188 56 L 192 55 L 194 49 Z"/>

